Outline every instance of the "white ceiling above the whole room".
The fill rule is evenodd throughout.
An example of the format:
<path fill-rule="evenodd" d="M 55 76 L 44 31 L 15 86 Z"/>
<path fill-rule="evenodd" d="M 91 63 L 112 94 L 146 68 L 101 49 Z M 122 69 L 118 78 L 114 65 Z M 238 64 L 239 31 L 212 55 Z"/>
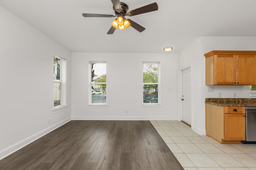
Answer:
<path fill-rule="evenodd" d="M 72 52 L 178 53 L 200 36 L 256 36 L 256 0 L 121 0 L 129 10 L 157 2 L 158 11 L 126 17 L 146 29 L 107 32 L 111 0 L 0 0 L 0 5 Z"/>

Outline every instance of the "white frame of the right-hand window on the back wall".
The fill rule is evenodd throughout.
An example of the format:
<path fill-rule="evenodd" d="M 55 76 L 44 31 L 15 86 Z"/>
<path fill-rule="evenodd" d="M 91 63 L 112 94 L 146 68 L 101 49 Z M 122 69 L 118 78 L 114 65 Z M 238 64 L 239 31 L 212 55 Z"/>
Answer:
<path fill-rule="evenodd" d="M 144 64 L 157 64 L 158 65 L 158 71 L 157 71 L 157 76 L 158 76 L 158 82 L 156 83 L 146 83 L 144 82 Z M 155 103 L 147 103 L 144 102 L 144 85 L 145 84 L 156 84 L 157 85 L 157 96 L 158 96 L 158 102 Z M 160 61 L 143 61 L 142 62 L 142 106 L 160 106 Z"/>

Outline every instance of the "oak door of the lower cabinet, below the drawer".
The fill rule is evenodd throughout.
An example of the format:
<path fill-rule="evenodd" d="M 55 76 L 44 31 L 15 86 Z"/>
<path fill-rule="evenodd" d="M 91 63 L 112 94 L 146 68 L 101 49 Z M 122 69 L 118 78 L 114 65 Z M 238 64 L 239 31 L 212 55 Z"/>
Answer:
<path fill-rule="evenodd" d="M 245 140 L 245 114 L 226 113 L 224 117 L 224 140 L 244 141 Z"/>

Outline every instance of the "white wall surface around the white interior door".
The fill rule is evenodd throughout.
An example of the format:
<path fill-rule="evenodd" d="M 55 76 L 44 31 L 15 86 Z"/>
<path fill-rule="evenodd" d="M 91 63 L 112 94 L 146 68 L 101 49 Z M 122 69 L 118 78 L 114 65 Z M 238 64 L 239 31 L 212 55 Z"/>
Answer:
<path fill-rule="evenodd" d="M 192 117 L 191 128 L 199 134 L 205 134 L 205 115 L 204 112 L 204 95 L 202 92 L 202 84 L 204 84 L 204 61 L 202 60 L 201 53 L 201 41 L 202 38 L 198 38 L 196 41 L 188 45 L 178 54 L 178 67 L 182 68 L 187 65 L 192 65 Z M 182 77 L 180 77 L 182 78 Z M 182 90 L 182 89 L 180 89 Z M 179 94 L 182 95 L 180 92 Z M 181 98 L 181 96 L 180 96 Z M 182 115 L 182 101 L 179 102 L 179 114 Z"/>

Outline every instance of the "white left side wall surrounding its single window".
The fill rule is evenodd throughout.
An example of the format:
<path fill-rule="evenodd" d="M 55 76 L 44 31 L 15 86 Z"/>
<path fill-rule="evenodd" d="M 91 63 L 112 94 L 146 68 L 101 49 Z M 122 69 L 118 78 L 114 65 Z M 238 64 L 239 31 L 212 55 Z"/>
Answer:
<path fill-rule="evenodd" d="M 71 119 L 71 53 L 1 6 L 0 25 L 1 159 Z M 67 59 L 68 107 L 58 113 L 54 53 Z"/>

